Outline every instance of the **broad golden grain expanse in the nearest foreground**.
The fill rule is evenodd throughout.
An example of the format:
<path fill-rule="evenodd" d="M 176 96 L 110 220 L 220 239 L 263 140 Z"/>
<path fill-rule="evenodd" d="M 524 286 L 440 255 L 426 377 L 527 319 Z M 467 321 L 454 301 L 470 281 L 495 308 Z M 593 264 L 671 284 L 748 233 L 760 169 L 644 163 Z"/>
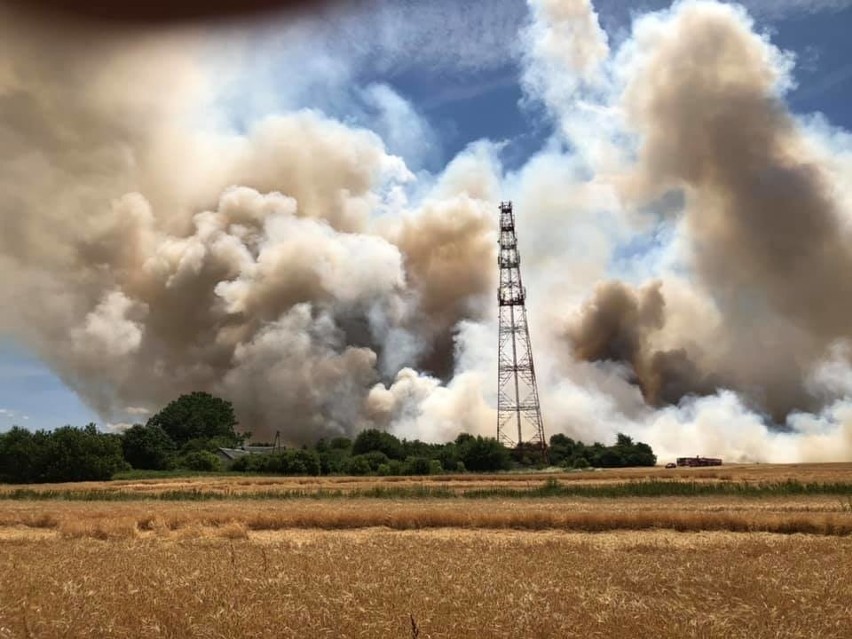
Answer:
<path fill-rule="evenodd" d="M 0 542 L 0 637 L 848 637 L 852 540 L 286 531 Z"/>

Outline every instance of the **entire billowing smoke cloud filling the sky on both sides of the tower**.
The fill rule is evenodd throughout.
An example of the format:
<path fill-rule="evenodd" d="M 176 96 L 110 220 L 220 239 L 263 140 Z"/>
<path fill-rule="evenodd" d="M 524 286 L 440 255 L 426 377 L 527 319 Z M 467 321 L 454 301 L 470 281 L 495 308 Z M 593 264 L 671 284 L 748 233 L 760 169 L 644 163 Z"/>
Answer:
<path fill-rule="evenodd" d="M 850 156 L 792 59 L 716 2 L 615 48 L 589 0 L 529 8 L 555 133 L 509 174 L 483 141 L 415 175 L 320 111 L 223 132 L 203 34 L 0 16 L 0 326 L 105 419 L 203 389 L 294 443 L 492 434 L 511 198 L 549 432 L 852 457 Z"/>

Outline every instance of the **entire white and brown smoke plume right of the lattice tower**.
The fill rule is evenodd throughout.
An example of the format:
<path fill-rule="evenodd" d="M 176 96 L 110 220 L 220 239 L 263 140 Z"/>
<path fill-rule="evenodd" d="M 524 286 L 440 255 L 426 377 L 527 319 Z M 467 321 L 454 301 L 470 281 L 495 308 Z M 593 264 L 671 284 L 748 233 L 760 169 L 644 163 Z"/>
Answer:
<path fill-rule="evenodd" d="M 531 4 L 532 34 L 575 41 L 532 48 L 528 91 L 593 175 L 584 186 L 618 202 L 578 206 L 573 223 L 628 233 L 600 234 L 583 299 L 566 288 L 570 308 L 543 329 L 562 336 L 553 409 L 579 437 L 622 428 L 666 456 L 849 458 L 849 367 L 832 344 L 852 333 L 850 202 L 825 140 L 783 103 L 791 59 L 742 10 L 682 2 L 638 19 L 591 85 L 586 58 L 563 54 L 559 73 L 552 53 L 604 50 L 590 4 L 555 3 L 581 25 L 567 31 L 552 3 Z M 656 248 L 620 257 L 631 230 Z"/>

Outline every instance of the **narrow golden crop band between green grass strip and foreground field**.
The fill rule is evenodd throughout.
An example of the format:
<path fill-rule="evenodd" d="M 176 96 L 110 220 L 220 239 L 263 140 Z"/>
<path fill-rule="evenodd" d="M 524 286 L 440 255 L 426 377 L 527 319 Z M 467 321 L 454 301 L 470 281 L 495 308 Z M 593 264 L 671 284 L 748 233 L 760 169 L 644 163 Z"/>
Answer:
<path fill-rule="evenodd" d="M 623 500 L 301 500 L 205 502 L 9 501 L 0 530 L 66 538 L 187 538 L 288 529 L 435 528 L 563 530 L 671 529 L 681 532 L 852 533 L 852 512 L 836 498 L 632 498 Z"/>

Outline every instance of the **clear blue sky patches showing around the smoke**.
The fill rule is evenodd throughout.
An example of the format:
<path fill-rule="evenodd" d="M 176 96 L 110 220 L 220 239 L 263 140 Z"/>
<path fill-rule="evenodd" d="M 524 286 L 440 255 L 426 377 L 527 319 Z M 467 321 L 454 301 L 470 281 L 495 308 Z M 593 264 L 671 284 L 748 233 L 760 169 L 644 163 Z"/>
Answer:
<path fill-rule="evenodd" d="M 399 16 L 394 3 L 385 4 L 390 8 L 382 24 L 392 32 Z M 403 7 L 406 4 L 397 3 Z M 747 4 L 773 43 L 797 56 L 794 75 L 798 86 L 788 95 L 791 109 L 799 114 L 822 113 L 832 125 L 852 130 L 852 2 L 752 0 Z M 611 41 L 617 43 L 625 37 L 631 11 L 657 9 L 666 3 L 601 0 L 595 5 Z M 359 29 L 364 27 L 357 16 L 327 21 L 322 26 L 327 33 L 319 34 L 323 46 L 338 36 L 343 40 L 348 37 L 355 42 L 351 46 L 357 53 L 353 53 L 357 63 L 342 67 L 337 88 L 328 89 L 328 83 L 314 86 L 303 78 L 304 86 L 298 94 L 257 100 L 261 106 L 245 109 L 245 101 L 234 96 L 228 101 L 230 118 L 237 123 L 250 122 L 259 112 L 297 106 L 318 108 L 364 126 L 378 126 L 371 119 L 369 98 L 359 98 L 364 103 L 355 104 L 347 87 L 387 85 L 405 98 L 426 123 L 428 131 L 423 135 L 433 137 L 432 150 L 420 157 L 407 155 L 405 139 L 396 142 L 398 149 L 393 148 L 393 140 L 389 141 L 391 150 L 402 154 L 413 168 L 436 172 L 465 146 L 481 138 L 505 142 L 502 159 L 506 168 L 522 165 L 551 133 L 541 110 L 524 102 L 519 85 L 515 40 L 525 15 L 524 3 L 480 0 L 468 3 L 464 15 L 452 13 L 447 2 L 432 6 L 436 8 L 423 24 L 409 25 L 407 28 L 412 31 L 399 38 L 410 43 L 408 48 L 394 41 L 383 51 L 383 37 L 393 39 L 393 35 L 383 36 L 381 29 L 374 41 L 358 45 L 355 41 L 363 37 Z M 448 22 L 448 15 L 461 24 Z M 347 31 L 342 35 L 335 31 L 341 25 Z M 476 32 L 472 42 L 465 46 L 446 44 L 459 37 L 457 30 L 464 29 Z M 306 62 L 311 62 L 315 36 L 312 32 L 301 45 Z M 274 47 L 274 29 L 268 29 L 266 37 Z M 333 58 L 339 51 L 331 47 L 326 53 Z M 286 70 L 276 66 L 277 58 L 273 55 L 271 59 L 268 68 L 255 69 L 253 73 L 286 77 Z M 305 73 L 309 75 L 310 68 Z M 247 82 L 247 86 L 251 90 L 252 82 Z M 276 87 L 273 93 L 289 90 L 281 86 L 280 79 Z M 0 430 L 13 424 L 53 428 L 89 421 L 100 420 L 34 353 L 11 336 L 0 338 Z"/>

